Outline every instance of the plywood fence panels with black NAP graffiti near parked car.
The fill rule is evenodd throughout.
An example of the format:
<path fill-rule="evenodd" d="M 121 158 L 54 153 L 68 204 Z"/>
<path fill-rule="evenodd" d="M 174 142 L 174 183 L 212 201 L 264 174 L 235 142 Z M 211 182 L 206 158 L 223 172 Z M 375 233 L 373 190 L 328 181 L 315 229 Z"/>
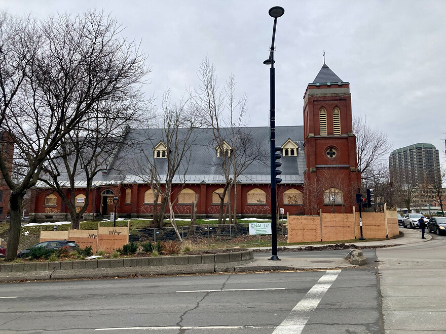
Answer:
<path fill-rule="evenodd" d="M 129 242 L 129 224 L 125 227 L 102 227 L 97 230 L 41 231 L 40 242 L 48 240 L 72 240 L 81 248 L 91 246 L 92 251 L 113 252 Z"/>

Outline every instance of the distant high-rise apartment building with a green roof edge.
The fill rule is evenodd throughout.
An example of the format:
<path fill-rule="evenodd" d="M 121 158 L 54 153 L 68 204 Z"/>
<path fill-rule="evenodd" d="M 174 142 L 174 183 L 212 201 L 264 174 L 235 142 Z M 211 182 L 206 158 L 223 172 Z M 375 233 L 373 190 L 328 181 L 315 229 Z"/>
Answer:
<path fill-rule="evenodd" d="M 440 178 L 440 158 L 432 144 L 418 143 L 394 150 L 389 157 L 390 180 L 399 184 L 435 183 Z"/>

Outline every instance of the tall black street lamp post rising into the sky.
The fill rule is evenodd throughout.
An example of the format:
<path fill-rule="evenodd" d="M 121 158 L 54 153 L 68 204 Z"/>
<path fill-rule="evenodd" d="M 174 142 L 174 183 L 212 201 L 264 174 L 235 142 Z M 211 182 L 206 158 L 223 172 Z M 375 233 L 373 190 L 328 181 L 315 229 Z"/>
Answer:
<path fill-rule="evenodd" d="M 276 200 L 276 115 L 275 115 L 275 81 L 274 81 L 274 39 L 276 37 L 277 18 L 285 10 L 282 7 L 272 7 L 268 13 L 274 18 L 273 38 L 271 41 L 270 56 L 263 63 L 271 65 L 270 68 L 270 149 L 271 149 L 271 243 L 272 256 L 269 260 L 280 260 L 277 256 L 277 200 Z"/>

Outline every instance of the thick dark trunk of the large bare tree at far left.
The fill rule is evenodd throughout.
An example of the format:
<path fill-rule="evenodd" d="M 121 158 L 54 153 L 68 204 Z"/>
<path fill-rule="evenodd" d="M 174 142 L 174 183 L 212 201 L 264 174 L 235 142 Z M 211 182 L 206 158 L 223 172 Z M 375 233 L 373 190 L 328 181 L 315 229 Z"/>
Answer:
<path fill-rule="evenodd" d="M 10 203 L 10 223 L 8 248 L 6 250 L 5 261 L 12 261 L 17 257 L 17 249 L 20 240 L 20 223 L 22 215 L 22 203 L 25 193 L 11 192 Z"/>

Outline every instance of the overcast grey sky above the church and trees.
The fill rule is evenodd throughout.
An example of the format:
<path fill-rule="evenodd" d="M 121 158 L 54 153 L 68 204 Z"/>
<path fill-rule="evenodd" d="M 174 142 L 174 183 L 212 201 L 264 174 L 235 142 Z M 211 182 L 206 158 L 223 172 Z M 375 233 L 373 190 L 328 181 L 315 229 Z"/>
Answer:
<path fill-rule="evenodd" d="M 180 97 L 198 85 L 206 56 L 221 85 L 234 74 L 251 126 L 268 126 L 268 58 L 276 32 L 276 126 L 303 124 L 303 95 L 325 62 L 350 82 L 354 115 L 389 136 L 393 148 L 432 143 L 445 161 L 446 1 L 0 0 L 11 14 L 104 10 L 140 39 L 152 68 L 147 95 Z M 389 152 L 390 154 L 390 152 Z"/>

